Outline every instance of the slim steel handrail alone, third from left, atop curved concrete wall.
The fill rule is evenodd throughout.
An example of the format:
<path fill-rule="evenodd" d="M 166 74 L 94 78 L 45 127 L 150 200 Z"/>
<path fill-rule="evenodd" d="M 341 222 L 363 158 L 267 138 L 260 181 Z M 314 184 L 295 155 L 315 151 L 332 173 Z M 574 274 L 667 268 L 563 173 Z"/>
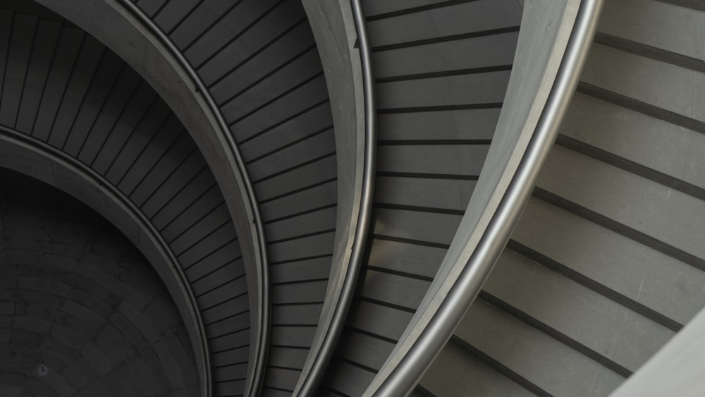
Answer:
<path fill-rule="evenodd" d="M 336 350 L 345 320 L 348 318 L 350 304 L 355 295 L 355 286 L 360 276 L 364 249 L 367 245 L 367 235 L 372 214 L 372 198 L 374 195 L 374 170 L 376 164 L 376 104 L 374 100 L 374 78 L 372 77 L 372 61 L 370 59 L 367 29 L 364 25 L 364 13 L 360 0 L 350 0 L 357 30 L 357 47 L 360 52 L 362 68 L 362 88 L 364 99 L 364 158 L 362 159 L 362 187 L 360 192 L 360 208 L 358 209 L 355 236 L 348 271 L 345 273 L 343 287 L 338 296 L 338 302 L 333 309 L 333 316 L 318 354 L 312 367 L 302 383 L 299 396 L 314 396 L 324 377 L 328 364 Z M 357 193 L 357 192 L 356 192 Z"/>

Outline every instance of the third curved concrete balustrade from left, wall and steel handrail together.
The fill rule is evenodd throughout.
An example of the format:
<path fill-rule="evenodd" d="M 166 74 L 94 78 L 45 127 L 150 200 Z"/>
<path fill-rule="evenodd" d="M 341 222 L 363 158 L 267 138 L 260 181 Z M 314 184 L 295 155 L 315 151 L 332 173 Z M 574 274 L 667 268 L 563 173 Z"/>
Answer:
<path fill-rule="evenodd" d="M 374 78 L 360 1 L 304 1 L 324 63 L 338 157 L 338 221 L 324 310 L 294 390 L 314 396 L 336 350 L 367 245 L 376 163 Z M 343 88 L 345 87 L 345 88 Z"/>

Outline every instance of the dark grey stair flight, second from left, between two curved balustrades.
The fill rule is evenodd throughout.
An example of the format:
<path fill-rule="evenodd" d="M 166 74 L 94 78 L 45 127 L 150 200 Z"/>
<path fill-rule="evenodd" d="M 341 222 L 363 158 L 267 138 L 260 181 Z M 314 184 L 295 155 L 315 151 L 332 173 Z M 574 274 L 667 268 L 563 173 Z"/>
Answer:
<path fill-rule="evenodd" d="M 269 256 L 268 393 L 293 391 L 323 305 L 336 228 L 333 121 L 300 1 L 137 1 L 195 68 L 255 187 Z"/>

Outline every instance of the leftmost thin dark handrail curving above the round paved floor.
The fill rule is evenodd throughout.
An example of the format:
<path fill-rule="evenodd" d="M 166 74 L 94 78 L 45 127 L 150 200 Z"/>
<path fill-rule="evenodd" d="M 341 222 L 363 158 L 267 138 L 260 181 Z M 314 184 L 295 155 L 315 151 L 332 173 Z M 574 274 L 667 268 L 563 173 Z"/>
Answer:
<path fill-rule="evenodd" d="M 42 142 L 41 140 L 32 138 L 30 135 L 20 133 L 19 131 L 14 130 L 13 128 L 8 128 L 6 126 L 1 125 L 0 140 L 8 142 L 11 145 L 25 147 L 28 150 L 39 154 L 40 156 L 46 159 L 49 159 L 49 161 L 51 161 L 52 163 L 63 166 L 75 175 L 87 181 L 87 183 L 91 183 L 92 185 L 97 186 L 99 190 L 101 190 L 113 202 L 118 204 L 119 207 L 121 207 L 125 212 L 127 212 L 132 219 L 135 219 L 135 223 L 137 224 L 137 226 L 140 228 L 141 231 L 145 233 L 147 238 L 152 241 L 154 247 L 157 248 L 157 251 L 164 259 L 164 262 L 166 262 L 166 267 L 168 267 L 168 270 L 171 271 L 173 280 L 176 281 L 176 285 L 181 290 L 180 296 L 185 298 L 185 303 L 187 306 L 186 308 L 188 310 L 188 313 L 190 314 L 190 318 L 194 322 L 193 330 L 195 331 L 195 335 L 193 335 L 193 338 L 195 339 L 195 341 L 200 342 L 197 346 L 194 346 L 194 348 L 196 352 L 200 353 L 197 354 L 197 360 L 199 360 L 200 368 L 203 369 L 202 391 L 205 396 L 210 396 L 212 385 L 212 372 L 210 366 L 209 348 L 203 318 L 201 316 L 200 310 L 198 310 L 196 295 L 193 292 L 190 283 L 188 282 L 186 274 L 183 272 L 183 269 L 181 269 L 176 255 L 174 255 L 173 251 L 171 250 L 171 247 L 169 247 L 168 243 L 166 243 L 166 240 L 164 240 L 164 237 L 161 236 L 161 233 L 159 233 L 157 227 L 154 226 L 151 221 L 149 221 L 149 218 L 147 218 L 147 216 L 140 210 L 139 207 L 137 207 L 134 202 L 132 202 L 132 200 L 130 200 L 129 197 L 127 197 L 124 193 L 118 190 L 118 188 L 106 178 L 104 178 L 104 176 L 100 175 L 97 171 L 90 168 L 90 166 L 83 164 L 78 159 L 69 156 L 65 152 L 62 152 L 56 147 Z M 6 164 L 1 160 L 0 164 L 3 164 L 4 166 L 11 166 L 11 164 Z M 25 169 L 16 169 L 16 171 L 20 173 L 27 173 L 27 170 Z M 41 178 L 38 175 L 30 176 L 33 176 L 35 178 Z M 50 181 L 44 181 L 53 185 L 53 183 L 51 183 Z M 59 186 L 56 187 L 61 190 Z M 68 191 L 66 191 L 66 193 L 71 194 L 71 192 Z M 100 209 L 94 209 L 99 214 L 106 216 L 106 214 L 103 214 Z M 108 216 L 106 216 L 106 218 L 107 217 Z M 117 224 L 114 225 L 118 226 Z M 125 233 L 125 231 L 123 231 L 123 233 Z M 125 235 L 129 235 L 129 233 L 125 233 Z M 135 243 L 135 245 L 138 244 Z M 142 252 L 142 254 L 148 256 L 145 252 Z M 157 271 L 160 270 L 157 267 L 155 268 Z"/>

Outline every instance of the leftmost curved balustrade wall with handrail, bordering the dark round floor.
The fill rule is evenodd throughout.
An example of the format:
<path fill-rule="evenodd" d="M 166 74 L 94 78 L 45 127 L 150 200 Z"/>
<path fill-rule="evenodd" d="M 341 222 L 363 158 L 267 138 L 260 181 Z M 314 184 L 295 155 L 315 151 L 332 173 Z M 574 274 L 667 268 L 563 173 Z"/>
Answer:
<path fill-rule="evenodd" d="M 11 155 L 8 155 L 7 152 L 10 152 Z M 44 161 L 48 161 L 49 165 L 42 166 Z M 27 162 L 30 162 L 32 166 L 26 166 Z M 204 396 L 210 396 L 212 393 L 212 371 L 209 364 L 209 346 L 196 295 L 176 255 L 164 237 L 161 236 L 157 227 L 152 224 L 152 221 L 129 197 L 90 166 L 46 142 L 7 126 L 0 126 L 0 166 L 53 185 L 64 193 L 75 197 L 108 219 L 111 224 L 133 241 L 133 244 L 142 252 L 142 255 L 149 259 L 152 267 L 164 281 L 177 303 L 178 309 L 186 310 L 181 315 L 187 329 L 193 333 L 191 335 L 192 343 L 196 342 L 193 348 L 197 366 L 202 372 L 200 374 L 202 382 L 200 390 Z M 79 178 L 80 182 L 65 181 L 64 183 L 70 188 L 61 185 L 56 181 L 55 169 L 61 169 L 62 172 Z M 94 188 L 97 192 L 97 202 L 86 200 L 86 196 L 90 195 L 90 188 Z M 137 233 L 133 231 L 135 226 Z M 175 281 L 176 285 L 173 285 L 172 281 Z M 178 291 L 173 291 L 172 288 L 178 288 Z M 183 301 L 185 301 L 185 305 L 179 304 Z"/>

